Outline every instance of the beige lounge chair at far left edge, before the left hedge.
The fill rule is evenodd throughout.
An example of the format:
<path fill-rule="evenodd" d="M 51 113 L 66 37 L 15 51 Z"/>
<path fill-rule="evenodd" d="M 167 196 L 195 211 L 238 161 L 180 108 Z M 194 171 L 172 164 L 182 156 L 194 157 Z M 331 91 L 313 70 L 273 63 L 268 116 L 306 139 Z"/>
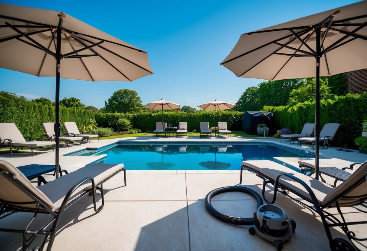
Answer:
<path fill-rule="evenodd" d="M 14 123 L 0 123 L 0 144 L 1 147 L 10 147 L 10 154 L 13 154 L 13 147 L 30 147 L 32 156 L 34 156 L 33 148 L 55 146 L 55 142 L 26 141 Z"/>

